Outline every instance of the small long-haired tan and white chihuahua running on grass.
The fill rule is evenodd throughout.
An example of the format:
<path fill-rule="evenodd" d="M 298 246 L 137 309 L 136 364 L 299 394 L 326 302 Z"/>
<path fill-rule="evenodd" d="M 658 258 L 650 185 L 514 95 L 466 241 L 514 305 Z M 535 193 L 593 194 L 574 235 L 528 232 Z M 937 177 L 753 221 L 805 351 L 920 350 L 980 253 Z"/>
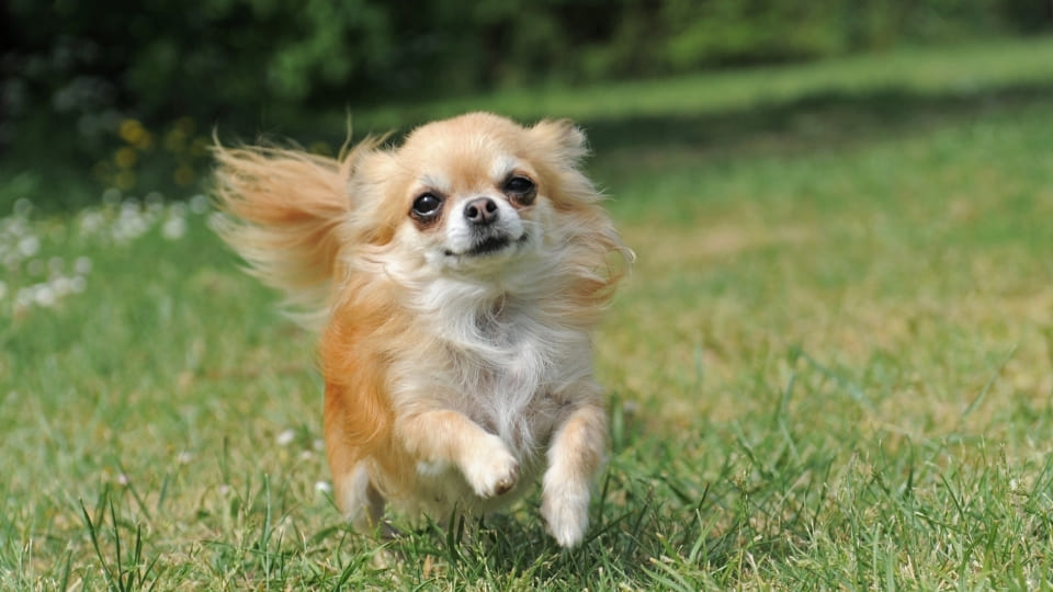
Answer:
<path fill-rule="evenodd" d="M 216 143 L 219 235 L 320 326 L 333 496 L 482 515 L 542 480 L 581 543 L 607 442 L 590 333 L 632 260 L 582 173 L 584 133 L 487 113 L 338 158 Z"/>

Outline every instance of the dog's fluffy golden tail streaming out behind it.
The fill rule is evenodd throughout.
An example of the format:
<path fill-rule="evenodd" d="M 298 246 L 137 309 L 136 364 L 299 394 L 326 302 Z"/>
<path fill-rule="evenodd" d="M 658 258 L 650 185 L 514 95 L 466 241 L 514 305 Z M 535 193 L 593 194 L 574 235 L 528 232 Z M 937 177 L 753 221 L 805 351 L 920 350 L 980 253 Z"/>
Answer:
<path fill-rule="evenodd" d="M 330 286 L 341 273 L 348 219 L 348 183 L 367 140 L 344 147 L 338 158 L 275 147 L 226 148 L 214 152 L 215 198 L 226 216 L 217 231 L 248 262 L 248 271 L 278 288 L 302 325 L 317 328 Z"/>

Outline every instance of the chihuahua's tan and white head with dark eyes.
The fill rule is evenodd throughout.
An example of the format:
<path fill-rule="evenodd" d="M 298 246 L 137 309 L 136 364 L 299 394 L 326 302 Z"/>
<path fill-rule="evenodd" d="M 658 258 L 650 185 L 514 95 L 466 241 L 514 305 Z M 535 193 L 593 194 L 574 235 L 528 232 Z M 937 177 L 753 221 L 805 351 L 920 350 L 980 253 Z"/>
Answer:
<path fill-rule="evenodd" d="M 541 253 L 568 190 L 587 183 L 575 168 L 582 144 L 569 124 L 524 128 L 488 114 L 420 127 L 365 163 L 392 230 L 378 238 L 403 261 L 439 272 L 482 273 Z"/>

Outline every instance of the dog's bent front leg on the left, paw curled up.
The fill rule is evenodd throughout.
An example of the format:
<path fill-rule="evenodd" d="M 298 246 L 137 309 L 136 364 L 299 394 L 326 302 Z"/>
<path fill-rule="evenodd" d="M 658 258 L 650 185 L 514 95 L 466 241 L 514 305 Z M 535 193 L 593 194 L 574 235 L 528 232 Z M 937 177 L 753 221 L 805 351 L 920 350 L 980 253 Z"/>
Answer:
<path fill-rule="evenodd" d="M 396 420 L 395 430 L 415 457 L 455 464 L 480 498 L 506 493 L 519 479 L 519 462 L 505 442 L 464 413 L 450 410 L 414 413 Z"/>

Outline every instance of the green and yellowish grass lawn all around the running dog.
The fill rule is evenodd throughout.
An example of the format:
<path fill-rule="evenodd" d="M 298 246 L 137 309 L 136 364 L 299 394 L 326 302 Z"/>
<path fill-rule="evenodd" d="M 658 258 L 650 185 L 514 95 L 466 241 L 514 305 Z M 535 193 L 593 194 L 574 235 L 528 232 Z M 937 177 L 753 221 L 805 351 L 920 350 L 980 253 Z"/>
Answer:
<path fill-rule="evenodd" d="M 313 338 L 200 201 L 22 202 L 0 588 L 1049 589 L 1050 64 L 1034 39 L 405 107 L 582 121 L 639 254 L 597 339 L 610 463 L 569 553 L 536 494 L 355 536 Z"/>

